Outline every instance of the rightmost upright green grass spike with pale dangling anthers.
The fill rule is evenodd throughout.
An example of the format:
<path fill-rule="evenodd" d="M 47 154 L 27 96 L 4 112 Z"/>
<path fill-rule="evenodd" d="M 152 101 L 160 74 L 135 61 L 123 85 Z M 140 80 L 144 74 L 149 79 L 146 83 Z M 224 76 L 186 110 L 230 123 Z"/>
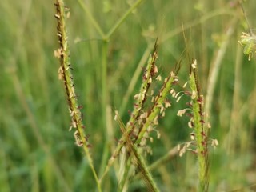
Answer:
<path fill-rule="evenodd" d="M 179 156 L 182 156 L 186 150 L 192 151 L 198 157 L 198 191 L 208 191 L 209 186 L 209 161 L 208 161 L 208 144 L 211 146 L 218 146 L 217 139 L 211 139 L 209 142 L 209 129 L 210 124 L 205 120 L 205 114 L 203 111 L 203 96 L 200 94 L 200 87 L 198 82 L 198 66 L 197 61 L 194 60 L 190 64 L 190 76 L 189 76 L 189 85 L 190 85 L 190 103 L 187 103 L 189 108 L 178 111 L 178 116 L 186 114 L 190 117 L 190 122 L 188 126 L 192 129 L 190 133 L 190 142 L 186 142 L 182 148 L 179 147 Z M 186 113 L 187 110 L 190 110 L 190 113 Z"/>

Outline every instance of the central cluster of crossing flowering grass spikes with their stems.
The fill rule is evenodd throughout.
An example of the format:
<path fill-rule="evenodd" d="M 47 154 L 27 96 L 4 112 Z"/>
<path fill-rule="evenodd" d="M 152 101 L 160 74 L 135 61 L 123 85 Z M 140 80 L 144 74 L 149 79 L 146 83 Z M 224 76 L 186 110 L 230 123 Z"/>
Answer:
<path fill-rule="evenodd" d="M 150 172 L 148 172 L 145 166 L 145 162 L 141 154 L 138 153 L 138 149 L 140 146 L 145 147 L 147 145 L 146 140 L 151 138 L 150 132 L 152 132 L 152 130 L 154 130 L 155 127 L 158 126 L 159 116 L 163 118 L 165 116 L 164 114 L 166 108 L 170 107 L 170 102 L 168 101 L 167 96 L 170 93 L 172 86 L 174 86 L 178 82 L 178 77 L 175 73 L 178 73 L 179 70 L 177 69 L 175 72 L 171 71 L 169 76 L 164 79 L 162 88 L 158 91 L 158 94 L 156 96 L 153 96 L 153 90 L 151 90 L 151 93 L 149 93 L 150 87 L 155 81 L 161 80 L 161 76 L 157 76 L 157 58 L 158 53 L 156 41 L 154 50 L 147 62 L 146 69 L 143 71 L 142 74 L 141 89 L 139 90 L 138 94 L 134 95 L 134 110 L 130 113 L 130 120 L 126 123 L 126 126 L 121 123 L 122 121 L 119 118 L 118 111 L 115 112 L 115 119 L 117 119 L 119 122 L 119 126 L 122 130 L 122 137 L 119 139 L 118 146 L 115 148 L 114 153 L 112 154 L 108 165 L 106 166 L 105 173 L 102 176 L 104 177 L 105 174 L 110 170 L 110 166 L 113 165 L 115 159 L 118 157 L 118 154 L 120 154 L 120 151 L 124 147 L 126 148 L 126 150 L 124 150 L 126 151 L 126 153 L 135 157 L 136 167 L 138 167 L 139 170 L 142 170 L 142 175 L 145 176 L 142 178 L 146 178 L 146 183 L 151 183 L 150 185 L 146 185 L 149 186 L 148 190 L 151 189 L 153 191 L 156 191 L 157 188 L 154 184 L 152 177 L 150 176 Z M 145 103 L 149 99 L 151 100 L 151 106 L 148 110 L 146 110 Z M 124 156 L 126 154 L 121 155 Z M 127 161 L 127 163 L 129 163 L 129 161 Z M 122 187 L 124 187 L 124 182 L 126 181 L 126 177 L 128 177 L 128 170 L 130 170 L 130 165 L 127 164 L 126 166 L 128 168 L 126 167 L 126 175 L 124 175 L 121 179 L 121 188 L 119 189 L 120 191 L 122 191 Z"/>

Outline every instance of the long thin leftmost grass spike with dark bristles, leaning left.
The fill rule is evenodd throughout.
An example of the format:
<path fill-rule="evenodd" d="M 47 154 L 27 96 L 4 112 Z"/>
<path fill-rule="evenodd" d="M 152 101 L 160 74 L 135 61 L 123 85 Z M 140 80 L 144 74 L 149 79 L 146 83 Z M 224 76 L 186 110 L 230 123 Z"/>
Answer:
<path fill-rule="evenodd" d="M 67 101 L 70 108 L 70 117 L 72 119 L 70 130 L 72 130 L 72 128 L 75 129 L 74 138 L 76 144 L 78 146 L 81 146 L 85 151 L 86 157 L 90 164 L 90 168 L 97 182 L 98 191 L 102 191 L 98 176 L 96 174 L 96 171 L 94 170 L 93 160 L 90 155 L 90 144 L 86 139 L 86 134 L 84 133 L 85 126 L 82 122 L 82 114 L 80 111 L 80 107 L 78 106 L 78 100 L 74 90 L 74 81 L 71 74 L 72 68 L 70 62 L 70 50 L 67 41 L 68 37 L 66 34 L 66 18 L 69 17 L 70 14 L 66 14 L 67 8 L 64 6 L 64 2 L 62 0 L 56 0 L 54 5 L 56 6 L 56 14 L 54 16 L 55 18 L 57 18 L 58 22 L 57 36 L 60 46 L 58 50 L 54 51 L 54 54 L 57 58 L 59 58 L 60 61 L 60 68 L 58 70 L 59 78 L 61 78 L 64 82 Z"/>

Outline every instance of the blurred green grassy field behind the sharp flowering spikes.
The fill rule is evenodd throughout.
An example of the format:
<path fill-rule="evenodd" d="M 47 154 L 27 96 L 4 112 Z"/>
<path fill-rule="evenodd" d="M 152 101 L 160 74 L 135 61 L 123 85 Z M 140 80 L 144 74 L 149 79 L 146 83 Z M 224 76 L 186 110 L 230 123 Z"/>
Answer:
<path fill-rule="evenodd" d="M 66 30 L 75 91 L 99 176 L 122 135 L 115 110 L 126 124 L 158 38 L 156 65 L 162 78 L 181 63 L 177 90 L 189 81 L 189 59 L 197 59 L 209 138 L 219 144 L 216 149 L 209 145 L 209 191 L 256 190 L 256 63 L 255 55 L 248 61 L 238 43 L 242 32 L 256 26 L 254 0 L 242 4 L 250 27 L 236 1 L 65 3 L 70 8 Z M 54 57 L 54 2 L 2 0 L 0 6 L 0 191 L 97 191 L 90 162 L 69 131 L 66 93 Z M 155 83 L 156 93 L 160 88 L 161 83 Z M 190 118 L 177 116 L 190 97 L 179 102 L 168 97 L 172 106 L 158 119 L 158 132 L 150 133 L 154 142 L 146 142 L 153 154 L 142 155 L 149 167 L 190 141 Z M 122 153 L 102 180 L 102 191 L 120 191 L 122 158 L 129 159 Z M 179 157 L 175 152 L 152 169 L 158 190 L 199 191 L 197 156 L 186 151 Z M 147 191 L 143 183 L 131 174 L 122 190 Z"/>

